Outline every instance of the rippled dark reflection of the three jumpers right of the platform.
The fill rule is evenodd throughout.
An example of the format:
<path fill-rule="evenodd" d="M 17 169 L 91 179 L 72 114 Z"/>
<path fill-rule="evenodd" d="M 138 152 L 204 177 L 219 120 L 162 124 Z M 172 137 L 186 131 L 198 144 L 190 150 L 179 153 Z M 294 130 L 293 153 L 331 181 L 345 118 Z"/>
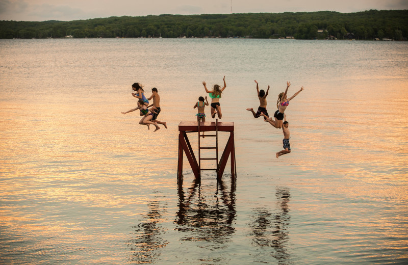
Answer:
<path fill-rule="evenodd" d="M 277 259 L 278 264 L 290 264 L 290 255 L 286 246 L 290 224 L 289 189 L 276 187 L 275 195 L 276 213 L 265 208 L 253 209 L 250 236 L 252 236 L 253 245 L 262 249 L 270 248 L 271 256 Z"/>

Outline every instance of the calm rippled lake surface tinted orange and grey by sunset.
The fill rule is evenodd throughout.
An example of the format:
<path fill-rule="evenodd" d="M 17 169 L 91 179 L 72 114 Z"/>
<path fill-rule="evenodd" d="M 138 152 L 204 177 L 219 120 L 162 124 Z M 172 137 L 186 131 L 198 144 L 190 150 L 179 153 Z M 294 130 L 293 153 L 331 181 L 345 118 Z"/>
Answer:
<path fill-rule="evenodd" d="M 1 264 L 408 263 L 408 42 L 0 40 L 0 62 Z M 177 186 L 177 126 L 224 75 L 236 182 L 185 158 Z M 269 114 L 305 88 L 279 159 L 253 80 Z M 134 82 L 168 129 L 120 113 Z"/>

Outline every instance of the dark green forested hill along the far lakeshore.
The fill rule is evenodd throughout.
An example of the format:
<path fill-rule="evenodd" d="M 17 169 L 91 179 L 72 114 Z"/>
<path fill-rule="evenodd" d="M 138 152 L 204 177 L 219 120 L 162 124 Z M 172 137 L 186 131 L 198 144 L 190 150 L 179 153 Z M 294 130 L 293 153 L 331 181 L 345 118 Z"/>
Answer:
<path fill-rule="evenodd" d="M 408 39 L 408 10 L 109 17 L 74 21 L 0 21 L 0 38 L 246 37 Z"/>

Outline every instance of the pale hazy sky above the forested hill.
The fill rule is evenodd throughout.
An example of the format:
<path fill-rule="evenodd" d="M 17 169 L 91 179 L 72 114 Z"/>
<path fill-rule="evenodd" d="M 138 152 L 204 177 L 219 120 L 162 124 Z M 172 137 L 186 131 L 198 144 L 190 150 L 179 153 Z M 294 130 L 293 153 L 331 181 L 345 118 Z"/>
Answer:
<path fill-rule="evenodd" d="M 408 9 L 408 0 L 0 0 L 0 20 L 71 21 L 111 16 Z"/>

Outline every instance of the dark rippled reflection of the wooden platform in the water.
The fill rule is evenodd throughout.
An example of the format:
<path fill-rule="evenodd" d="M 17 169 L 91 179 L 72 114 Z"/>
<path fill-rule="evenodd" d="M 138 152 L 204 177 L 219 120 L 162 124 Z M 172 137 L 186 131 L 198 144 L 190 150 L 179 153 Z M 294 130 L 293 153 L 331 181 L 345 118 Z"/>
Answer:
<path fill-rule="evenodd" d="M 186 233 L 181 240 L 207 242 L 209 244 L 201 247 L 209 249 L 223 248 L 235 232 L 235 218 L 233 182 L 228 192 L 224 182 L 218 181 L 215 195 L 201 193 L 199 182 L 193 182 L 185 194 L 179 184 L 179 211 L 174 223 L 177 224 L 176 230 Z"/>

